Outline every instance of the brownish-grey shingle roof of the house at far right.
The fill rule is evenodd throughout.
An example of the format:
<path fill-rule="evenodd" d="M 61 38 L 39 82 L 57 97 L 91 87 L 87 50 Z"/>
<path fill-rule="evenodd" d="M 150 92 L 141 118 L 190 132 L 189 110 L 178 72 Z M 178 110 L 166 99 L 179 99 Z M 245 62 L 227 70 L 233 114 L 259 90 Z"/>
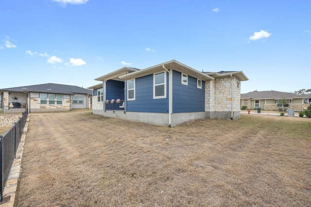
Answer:
<path fill-rule="evenodd" d="M 297 95 L 293 93 L 280 91 L 253 91 L 246 94 L 241 94 L 242 99 L 294 99 L 294 98 L 309 98 L 308 95 Z"/>

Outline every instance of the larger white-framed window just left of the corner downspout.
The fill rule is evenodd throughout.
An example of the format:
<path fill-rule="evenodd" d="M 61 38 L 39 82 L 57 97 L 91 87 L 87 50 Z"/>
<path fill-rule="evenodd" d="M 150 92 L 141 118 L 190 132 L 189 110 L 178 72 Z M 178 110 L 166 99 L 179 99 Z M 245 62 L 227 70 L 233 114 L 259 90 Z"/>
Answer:
<path fill-rule="evenodd" d="M 154 74 L 154 98 L 166 98 L 166 72 Z"/>

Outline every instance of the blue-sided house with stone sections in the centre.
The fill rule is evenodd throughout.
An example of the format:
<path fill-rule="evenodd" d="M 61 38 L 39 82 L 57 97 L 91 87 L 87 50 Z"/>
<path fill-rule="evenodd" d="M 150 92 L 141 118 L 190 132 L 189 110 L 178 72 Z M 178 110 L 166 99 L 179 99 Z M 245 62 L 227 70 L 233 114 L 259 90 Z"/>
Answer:
<path fill-rule="evenodd" d="M 241 81 L 248 79 L 242 71 L 199 72 L 172 60 L 142 70 L 122 67 L 95 80 L 102 83 L 89 87 L 94 114 L 171 127 L 240 118 Z"/>

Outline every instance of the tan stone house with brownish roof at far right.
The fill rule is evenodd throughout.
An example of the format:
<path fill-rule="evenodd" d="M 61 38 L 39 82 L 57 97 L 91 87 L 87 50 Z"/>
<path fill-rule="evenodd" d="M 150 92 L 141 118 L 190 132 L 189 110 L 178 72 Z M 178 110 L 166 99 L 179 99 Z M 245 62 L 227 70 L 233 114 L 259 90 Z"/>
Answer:
<path fill-rule="evenodd" d="M 282 111 L 281 100 L 285 99 L 284 109 L 294 109 L 303 111 L 310 105 L 310 95 L 297 95 L 293 93 L 279 91 L 254 91 L 241 94 L 241 107 L 247 109 L 257 109 L 268 111 Z"/>

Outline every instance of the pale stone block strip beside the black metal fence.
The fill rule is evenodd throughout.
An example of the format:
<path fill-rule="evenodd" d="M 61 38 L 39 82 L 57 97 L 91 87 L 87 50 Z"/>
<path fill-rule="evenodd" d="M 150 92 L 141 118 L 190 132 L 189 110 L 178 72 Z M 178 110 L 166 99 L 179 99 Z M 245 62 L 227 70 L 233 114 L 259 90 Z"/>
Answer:
<path fill-rule="evenodd" d="M 28 131 L 28 122 L 29 122 L 29 114 L 28 114 L 25 127 L 23 129 L 23 134 L 21 136 L 20 143 L 17 148 L 16 158 L 13 161 L 10 175 L 6 181 L 6 185 L 3 190 L 3 197 L 11 196 L 10 201 L 4 204 L 1 204 L 0 207 L 13 207 L 14 206 L 17 183 L 18 183 L 19 175 L 21 173 L 21 158 L 23 156 L 25 139 L 26 139 L 26 134 Z"/>

